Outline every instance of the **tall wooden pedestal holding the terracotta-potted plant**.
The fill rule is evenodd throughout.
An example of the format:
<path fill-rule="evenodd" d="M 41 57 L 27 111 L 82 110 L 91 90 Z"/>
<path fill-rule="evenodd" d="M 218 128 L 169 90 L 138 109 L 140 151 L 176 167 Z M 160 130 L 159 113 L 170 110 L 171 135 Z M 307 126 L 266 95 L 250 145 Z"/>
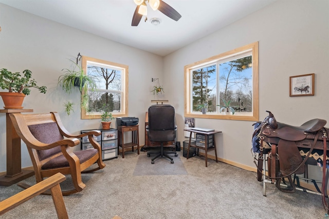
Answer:
<path fill-rule="evenodd" d="M 0 186 L 11 186 L 25 178 L 34 175 L 29 168 L 22 169 L 21 162 L 21 138 L 17 135 L 10 120 L 10 113 L 33 112 L 33 109 L 3 109 L 0 113 L 6 113 L 6 137 L 7 137 L 7 173 L 0 176 Z"/>

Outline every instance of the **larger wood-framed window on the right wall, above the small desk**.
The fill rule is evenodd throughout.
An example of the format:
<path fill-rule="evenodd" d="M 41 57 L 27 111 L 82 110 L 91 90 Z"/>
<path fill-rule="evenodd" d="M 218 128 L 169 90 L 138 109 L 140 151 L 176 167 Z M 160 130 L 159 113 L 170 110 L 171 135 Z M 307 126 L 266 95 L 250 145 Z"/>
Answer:
<path fill-rule="evenodd" d="M 185 66 L 185 117 L 259 120 L 258 42 Z M 230 101 L 234 115 L 221 112 Z M 206 105 L 202 114 L 199 105 Z"/>

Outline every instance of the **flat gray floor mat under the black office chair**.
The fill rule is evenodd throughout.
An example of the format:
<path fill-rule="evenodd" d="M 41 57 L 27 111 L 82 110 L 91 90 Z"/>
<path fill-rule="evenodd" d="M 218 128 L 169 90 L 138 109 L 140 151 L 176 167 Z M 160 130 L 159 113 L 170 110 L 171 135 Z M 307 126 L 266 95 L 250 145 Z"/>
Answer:
<path fill-rule="evenodd" d="M 151 164 L 152 157 L 155 155 L 156 154 L 151 154 L 151 156 L 148 157 L 147 153 L 141 153 L 138 157 L 133 175 L 187 175 L 187 171 L 184 164 L 181 162 L 179 155 L 174 156 L 173 154 L 170 154 L 174 160 L 173 164 L 170 163 L 170 160 L 167 157 L 159 157 L 154 160 L 154 164 Z"/>

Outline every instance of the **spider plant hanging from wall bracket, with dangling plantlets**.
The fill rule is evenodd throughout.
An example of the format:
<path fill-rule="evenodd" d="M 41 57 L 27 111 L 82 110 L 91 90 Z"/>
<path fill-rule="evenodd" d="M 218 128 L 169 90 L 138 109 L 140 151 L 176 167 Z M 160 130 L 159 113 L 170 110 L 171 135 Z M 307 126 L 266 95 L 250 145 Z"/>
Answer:
<path fill-rule="evenodd" d="M 62 69 L 64 74 L 59 76 L 57 86 L 61 86 L 68 94 L 70 94 L 75 87 L 79 88 L 82 95 L 80 101 L 81 108 L 87 109 L 87 103 L 89 100 L 87 94 L 88 89 L 92 91 L 97 89 L 96 78 L 85 74 L 80 65 L 76 64 L 74 61 L 71 62 L 74 64 L 74 67 L 72 69 Z M 64 104 L 64 109 L 67 115 L 71 113 L 72 105 L 74 105 L 74 103 L 69 101 Z"/>

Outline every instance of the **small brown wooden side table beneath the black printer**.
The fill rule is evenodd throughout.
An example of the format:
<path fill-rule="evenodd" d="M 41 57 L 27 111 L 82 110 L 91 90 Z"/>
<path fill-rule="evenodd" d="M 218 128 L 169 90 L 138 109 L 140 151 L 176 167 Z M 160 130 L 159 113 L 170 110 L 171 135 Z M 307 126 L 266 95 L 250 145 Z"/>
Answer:
<path fill-rule="evenodd" d="M 137 146 L 137 153 L 139 154 L 139 125 L 136 126 L 118 126 L 118 147 L 122 148 L 122 158 L 124 158 L 124 149 L 128 147 L 132 147 L 132 151 L 134 152 L 134 146 Z M 124 143 L 123 142 L 123 133 L 131 131 L 132 132 L 132 142 Z M 118 154 L 120 151 L 118 150 Z"/>

